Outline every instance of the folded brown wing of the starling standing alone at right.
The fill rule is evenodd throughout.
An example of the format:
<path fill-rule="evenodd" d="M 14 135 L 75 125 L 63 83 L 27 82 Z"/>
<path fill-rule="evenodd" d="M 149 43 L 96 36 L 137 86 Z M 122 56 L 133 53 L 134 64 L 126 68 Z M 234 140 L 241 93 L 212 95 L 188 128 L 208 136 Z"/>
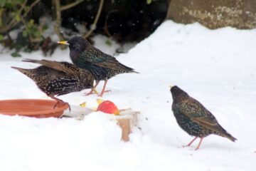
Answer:
<path fill-rule="evenodd" d="M 184 103 L 184 107 L 181 108 L 181 113 L 188 116 L 192 121 L 213 131 L 223 131 L 214 115 L 197 100 L 190 98 Z"/>

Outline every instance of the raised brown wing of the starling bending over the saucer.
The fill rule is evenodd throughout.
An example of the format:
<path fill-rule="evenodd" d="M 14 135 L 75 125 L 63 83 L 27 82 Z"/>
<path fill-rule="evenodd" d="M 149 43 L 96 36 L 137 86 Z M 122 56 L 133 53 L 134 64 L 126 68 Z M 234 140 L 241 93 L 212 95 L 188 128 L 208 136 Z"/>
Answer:
<path fill-rule="evenodd" d="M 23 59 L 24 62 L 31 62 L 31 63 L 39 63 L 43 66 L 47 66 L 48 68 L 53 68 L 58 71 L 63 71 L 65 73 L 68 73 L 70 75 L 75 74 L 76 72 L 71 69 L 71 67 L 68 67 L 69 65 L 72 66 L 72 64 L 68 62 L 58 62 L 58 61 L 50 61 L 50 60 L 34 60 L 34 59 Z"/>

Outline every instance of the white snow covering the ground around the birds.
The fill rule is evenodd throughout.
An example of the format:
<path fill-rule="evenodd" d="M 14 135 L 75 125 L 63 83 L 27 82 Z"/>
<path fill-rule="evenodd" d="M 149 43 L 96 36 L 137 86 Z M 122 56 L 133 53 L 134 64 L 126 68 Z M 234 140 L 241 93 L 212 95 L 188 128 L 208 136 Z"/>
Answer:
<path fill-rule="evenodd" d="M 129 142 L 120 140 L 121 129 L 100 112 L 84 120 L 0 115 L 0 170 L 256 170 L 255 44 L 256 29 L 209 30 L 200 24 L 166 21 L 117 56 L 139 74 L 120 74 L 107 84 L 112 93 L 105 93 L 105 100 L 141 112 L 141 129 L 134 129 Z M 98 45 L 102 51 L 110 49 Z M 108 53 L 113 54 L 111 49 Z M 70 61 L 68 53 L 58 49 L 48 59 Z M 39 51 L 22 56 L 45 58 Z M 49 99 L 10 66 L 36 64 L 1 54 L 0 99 Z M 203 103 L 238 141 L 210 135 L 200 150 L 194 150 L 198 140 L 183 148 L 192 137 L 176 123 L 169 85 Z M 93 108 L 97 96 L 84 96 L 87 91 L 60 98 L 71 105 L 86 101 Z"/>

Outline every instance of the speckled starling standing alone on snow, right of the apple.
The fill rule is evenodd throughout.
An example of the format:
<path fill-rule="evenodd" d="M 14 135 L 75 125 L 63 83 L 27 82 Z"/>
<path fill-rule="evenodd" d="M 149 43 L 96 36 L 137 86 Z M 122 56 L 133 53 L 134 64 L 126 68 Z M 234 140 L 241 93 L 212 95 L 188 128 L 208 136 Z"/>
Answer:
<path fill-rule="evenodd" d="M 199 149 L 203 138 L 210 134 L 220 135 L 235 142 L 237 140 L 230 135 L 198 100 L 191 98 L 188 93 L 178 88 L 171 87 L 173 97 L 172 110 L 178 125 L 189 135 L 201 138 L 196 150 Z M 190 146 L 194 140 L 188 143 Z"/>

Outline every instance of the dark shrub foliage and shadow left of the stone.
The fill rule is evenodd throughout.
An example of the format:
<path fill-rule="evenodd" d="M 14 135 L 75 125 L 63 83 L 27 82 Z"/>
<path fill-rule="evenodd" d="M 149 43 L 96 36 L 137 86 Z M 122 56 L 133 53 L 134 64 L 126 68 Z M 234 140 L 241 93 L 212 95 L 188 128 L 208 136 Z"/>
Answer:
<path fill-rule="evenodd" d="M 60 21 L 61 27 L 55 32 L 59 37 L 70 38 L 79 34 L 77 24 L 82 24 L 88 30 L 95 21 L 99 9 L 99 1 L 76 0 L 80 2 L 60 11 L 58 18 L 57 2 L 55 0 L 4 0 L 0 3 L 0 42 L 18 51 L 34 51 L 41 49 L 44 54 L 54 51 L 56 44 L 50 43 L 43 36 L 48 25 L 42 17 L 48 16 L 53 21 Z M 75 0 L 60 1 L 60 8 L 67 7 Z M 93 33 L 100 33 L 119 42 L 141 41 L 149 36 L 162 21 L 167 11 L 168 1 L 103 1 L 100 18 Z M 57 22 L 58 23 L 58 22 Z M 63 29 L 63 28 L 69 28 Z M 18 36 L 13 37 L 10 31 L 17 29 Z M 62 39 L 61 38 L 61 39 Z"/>

